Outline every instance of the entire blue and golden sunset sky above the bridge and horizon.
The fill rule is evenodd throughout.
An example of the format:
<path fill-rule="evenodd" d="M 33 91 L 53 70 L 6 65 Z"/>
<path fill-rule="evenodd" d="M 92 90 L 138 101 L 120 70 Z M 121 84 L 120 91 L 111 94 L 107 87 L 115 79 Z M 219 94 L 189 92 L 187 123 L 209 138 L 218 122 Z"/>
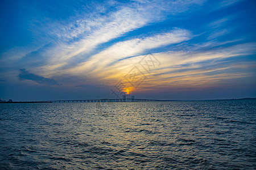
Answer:
<path fill-rule="evenodd" d="M 256 1 L 0 1 L 0 99 L 256 97 Z"/>

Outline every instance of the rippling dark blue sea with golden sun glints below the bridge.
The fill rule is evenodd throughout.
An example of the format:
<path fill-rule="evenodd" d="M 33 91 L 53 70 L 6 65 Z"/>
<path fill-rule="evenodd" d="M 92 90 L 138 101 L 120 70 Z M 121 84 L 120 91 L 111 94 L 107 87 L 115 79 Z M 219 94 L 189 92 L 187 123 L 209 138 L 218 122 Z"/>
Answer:
<path fill-rule="evenodd" d="M 0 169 L 256 169 L 256 100 L 0 104 Z"/>

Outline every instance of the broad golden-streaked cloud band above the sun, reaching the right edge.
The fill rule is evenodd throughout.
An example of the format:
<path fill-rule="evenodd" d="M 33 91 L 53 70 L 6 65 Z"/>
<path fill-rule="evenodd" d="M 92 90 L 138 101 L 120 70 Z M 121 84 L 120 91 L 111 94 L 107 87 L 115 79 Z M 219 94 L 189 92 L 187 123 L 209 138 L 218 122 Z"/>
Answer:
<path fill-rule="evenodd" d="M 146 87 L 164 89 L 219 86 L 227 80 L 250 77 L 253 73 L 251 67 L 256 63 L 236 61 L 238 57 L 243 58 L 242 56 L 254 54 L 255 51 L 256 45 L 249 43 L 204 51 L 153 53 L 161 65 L 152 69 L 150 74 L 143 72 L 147 78 L 137 90 Z M 106 67 L 102 72 L 94 73 L 93 76 L 98 76 L 102 82 L 113 86 L 118 80 L 126 82 L 124 76 L 133 66 L 139 66 L 136 64 L 142 57 L 144 56 L 124 59 Z"/>

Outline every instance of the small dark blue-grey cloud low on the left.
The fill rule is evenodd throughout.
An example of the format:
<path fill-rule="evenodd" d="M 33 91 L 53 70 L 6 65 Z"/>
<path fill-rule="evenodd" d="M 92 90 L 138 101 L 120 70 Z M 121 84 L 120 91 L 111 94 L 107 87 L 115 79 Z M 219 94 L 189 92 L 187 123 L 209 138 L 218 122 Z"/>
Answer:
<path fill-rule="evenodd" d="M 56 82 L 55 79 L 44 78 L 43 76 L 29 73 L 26 69 L 20 69 L 20 72 L 21 73 L 18 75 L 20 80 L 24 80 L 24 79 L 32 80 L 39 84 L 48 84 L 51 86 L 52 85 L 60 85 L 59 83 Z"/>

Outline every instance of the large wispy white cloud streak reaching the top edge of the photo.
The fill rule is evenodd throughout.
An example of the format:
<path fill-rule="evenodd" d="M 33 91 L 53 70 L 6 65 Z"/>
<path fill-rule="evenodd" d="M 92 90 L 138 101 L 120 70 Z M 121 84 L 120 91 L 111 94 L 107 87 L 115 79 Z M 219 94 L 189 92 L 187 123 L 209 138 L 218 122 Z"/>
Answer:
<path fill-rule="evenodd" d="M 179 2 L 170 1 L 134 1 L 125 4 L 110 2 L 100 10 L 107 11 L 106 8 L 113 8 L 113 4 L 115 10 L 105 15 L 96 15 L 94 12 L 86 14 L 81 11 L 81 14 L 73 16 L 68 22 L 56 23 L 56 28 L 46 29 L 53 42 L 51 48 L 47 48 L 44 65 L 69 65 L 72 58 L 76 58 L 78 63 L 86 61 L 98 45 L 134 29 L 159 22 L 166 18 L 166 14 L 179 14 L 188 10 L 191 5 L 201 5 L 204 1 L 182 1 L 182 6 Z M 46 47 L 41 49 L 44 48 Z"/>

